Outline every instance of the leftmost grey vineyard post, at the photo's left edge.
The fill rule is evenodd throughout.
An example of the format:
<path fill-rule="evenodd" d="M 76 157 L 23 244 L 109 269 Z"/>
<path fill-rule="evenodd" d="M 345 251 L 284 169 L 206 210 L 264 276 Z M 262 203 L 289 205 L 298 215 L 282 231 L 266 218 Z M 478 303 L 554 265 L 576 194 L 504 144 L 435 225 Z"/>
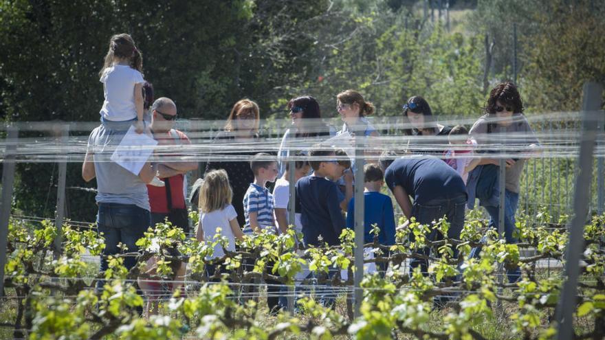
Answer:
<path fill-rule="evenodd" d="M 17 150 L 17 138 L 19 137 L 19 131 L 14 126 L 8 126 L 6 131 L 6 146 L 2 162 L 2 205 L 0 207 L 0 296 L 4 296 L 4 265 L 6 264 L 8 223 L 14 189 L 14 158 Z"/>

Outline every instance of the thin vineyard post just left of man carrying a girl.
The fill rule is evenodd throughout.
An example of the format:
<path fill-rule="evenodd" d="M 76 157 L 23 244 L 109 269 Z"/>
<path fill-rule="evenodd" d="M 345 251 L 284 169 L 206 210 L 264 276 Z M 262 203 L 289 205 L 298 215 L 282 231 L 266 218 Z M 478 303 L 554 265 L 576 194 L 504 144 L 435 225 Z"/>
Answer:
<path fill-rule="evenodd" d="M 57 234 L 54 238 L 53 253 L 55 260 L 61 256 L 61 242 L 63 240 L 63 219 L 65 218 L 65 176 L 67 173 L 67 155 L 65 146 L 67 145 L 67 136 L 69 135 L 69 125 L 63 124 L 56 126 L 54 133 L 57 134 L 58 155 L 58 183 L 57 183 L 57 203 L 55 227 Z"/>

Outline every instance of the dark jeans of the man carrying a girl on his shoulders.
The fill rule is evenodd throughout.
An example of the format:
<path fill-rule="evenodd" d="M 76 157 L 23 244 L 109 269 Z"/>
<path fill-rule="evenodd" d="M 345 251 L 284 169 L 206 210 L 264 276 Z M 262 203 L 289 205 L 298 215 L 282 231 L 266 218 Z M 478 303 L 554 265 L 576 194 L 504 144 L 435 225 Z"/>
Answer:
<path fill-rule="evenodd" d="M 143 237 L 151 223 L 148 210 L 136 205 L 120 203 L 99 203 L 97 215 L 98 231 L 103 233 L 105 249 L 101 257 L 100 271 L 107 270 L 107 256 L 120 253 L 118 243 L 128 247 L 128 252 L 138 251 L 136 242 Z M 124 267 L 131 269 L 136 264 L 136 258 L 124 258 Z"/>

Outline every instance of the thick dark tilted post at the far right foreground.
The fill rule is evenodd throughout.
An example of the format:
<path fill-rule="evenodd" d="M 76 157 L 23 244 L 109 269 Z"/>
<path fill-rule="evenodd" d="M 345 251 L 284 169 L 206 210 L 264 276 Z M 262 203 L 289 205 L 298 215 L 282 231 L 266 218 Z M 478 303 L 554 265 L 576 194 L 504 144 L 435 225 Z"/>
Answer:
<path fill-rule="evenodd" d="M 593 177 L 593 151 L 597 124 L 595 120 L 601 106 L 603 87 L 595 82 L 584 84 L 582 100 L 582 133 L 580 133 L 580 157 L 578 159 L 579 174 L 575 178 L 575 193 L 573 195 L 573 220 L 569 230 L 569 241 L 565 251 L 565 276 L 561 299 L 556 310 L 558 321 L 558 339 L 572 339 L 573 313 L 577 303 L 577 276 L 580 273 L 580 256 L 584 251 L 584 224 L 588 214 L 588 204 L 591 200 L 590 183 Z"/>

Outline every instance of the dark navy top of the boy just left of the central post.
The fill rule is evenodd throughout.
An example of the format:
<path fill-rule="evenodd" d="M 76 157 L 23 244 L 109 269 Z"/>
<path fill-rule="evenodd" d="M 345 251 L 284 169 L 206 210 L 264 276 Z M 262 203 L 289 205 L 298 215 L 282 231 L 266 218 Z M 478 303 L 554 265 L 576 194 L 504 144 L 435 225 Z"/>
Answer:
<path fill-rule="evenodd" d="M 300 211 L 305 245 L 319 245 L 320 235 L 328 245 L 340 245 L 343 199 L 338 185 L 323 177 L 307 176 L 296 182 L 296 210 Z"/>

